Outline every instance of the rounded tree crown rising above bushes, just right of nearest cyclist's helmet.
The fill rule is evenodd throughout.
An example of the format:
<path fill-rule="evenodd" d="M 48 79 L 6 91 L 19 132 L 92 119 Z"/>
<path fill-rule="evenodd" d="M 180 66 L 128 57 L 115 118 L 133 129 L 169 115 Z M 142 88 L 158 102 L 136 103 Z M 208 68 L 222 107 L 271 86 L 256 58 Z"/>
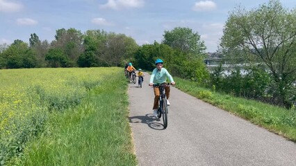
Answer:
<path fill-rule="evenodd" d="M 186 53 L 201 55 L 206 50 L 200 35 L 193 32 L 190 28 L 176 27 L 173 30 L 165 30 L 163 37 L 163 44 Z"/>

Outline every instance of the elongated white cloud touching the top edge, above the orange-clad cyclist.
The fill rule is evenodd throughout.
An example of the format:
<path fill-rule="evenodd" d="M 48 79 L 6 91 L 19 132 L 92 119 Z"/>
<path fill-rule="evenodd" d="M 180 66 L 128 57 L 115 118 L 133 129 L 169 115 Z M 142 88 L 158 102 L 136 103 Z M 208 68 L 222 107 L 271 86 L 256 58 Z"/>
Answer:
<path fill-rule="evenodd" d="M 111 8 L 119 10 L 121 8 L 141 8 L 144 6 L 144 0 L 108 0 L 101 8 Z"/>

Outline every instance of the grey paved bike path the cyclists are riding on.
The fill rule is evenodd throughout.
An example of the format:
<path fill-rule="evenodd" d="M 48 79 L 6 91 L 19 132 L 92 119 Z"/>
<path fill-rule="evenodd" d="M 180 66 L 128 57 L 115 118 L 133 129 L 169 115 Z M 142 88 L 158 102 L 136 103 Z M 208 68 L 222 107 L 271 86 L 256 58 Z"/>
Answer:
<path fill-rule="evenodd" d="M 129 84 L 139 165 L 296 165 L 296 144 L 171 87 L 167 129 L 152 116 L 153 89 Z M 178 84 L 178 82 L 176 82 Z"/>

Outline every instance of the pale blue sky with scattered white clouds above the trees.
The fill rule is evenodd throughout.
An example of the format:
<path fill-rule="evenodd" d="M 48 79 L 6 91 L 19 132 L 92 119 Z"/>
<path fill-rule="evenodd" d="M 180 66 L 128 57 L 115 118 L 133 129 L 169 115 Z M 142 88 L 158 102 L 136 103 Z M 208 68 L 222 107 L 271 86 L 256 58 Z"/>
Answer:
<path fill-rule="evenodd" d="M 153 44 L 180 26 L 199 33 L 206 51 L 214 52 L 229 12 L 263 3 L 268 0 L 0 0 L 0 44 L 28 43 L 31 33 L 51 42 L 60 28 L 124 33 L 139 45 Z M 296 7 L 295 0 L 281 3 Z"/>

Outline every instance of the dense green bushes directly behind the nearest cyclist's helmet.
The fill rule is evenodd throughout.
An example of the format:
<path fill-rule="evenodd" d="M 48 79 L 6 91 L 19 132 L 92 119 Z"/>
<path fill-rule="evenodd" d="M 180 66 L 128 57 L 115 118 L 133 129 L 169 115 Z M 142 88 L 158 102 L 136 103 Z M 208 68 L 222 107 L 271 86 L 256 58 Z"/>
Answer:
<path fill-rule="evenodd" d="M 175 50 L 166 44 L 145 44 L 135 53 L 135 66 L 152 71 L 155 68 L 155 60 L 161 58 L 164 61 L 163 66 L 176 77 L 186 78 L 206 84 L 209 79 L 209 73 L 202 56 L 196 57 L 190 53 L 181 50 Z"/>

